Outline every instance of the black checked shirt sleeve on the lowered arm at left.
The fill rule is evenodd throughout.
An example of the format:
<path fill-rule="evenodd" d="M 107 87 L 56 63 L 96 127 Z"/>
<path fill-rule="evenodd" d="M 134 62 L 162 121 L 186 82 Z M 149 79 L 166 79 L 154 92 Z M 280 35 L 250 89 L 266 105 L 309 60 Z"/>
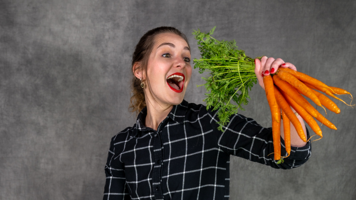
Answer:
<path fill-rule="evenodd" d="M 108 158 L 105 165 L 105 187 L 103 200 L 131 200 L 125 178 L 125 166 L 117 157 L 114 137 L 111 139 Z"/>

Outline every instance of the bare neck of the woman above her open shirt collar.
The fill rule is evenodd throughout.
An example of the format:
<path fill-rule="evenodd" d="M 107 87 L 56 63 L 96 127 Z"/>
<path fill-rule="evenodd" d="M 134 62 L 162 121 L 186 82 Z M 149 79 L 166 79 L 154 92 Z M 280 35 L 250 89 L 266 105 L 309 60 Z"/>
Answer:
<path fill-rule="evenodd" d="M 150 100 L 146 102 L 147 105 L 147 115 L 145 119 L 145 126 L 153 130 L 158 129 L 158 125 L 167 117 L 173 108 L 173 105 L 157 103 L 156 101 Z"/>

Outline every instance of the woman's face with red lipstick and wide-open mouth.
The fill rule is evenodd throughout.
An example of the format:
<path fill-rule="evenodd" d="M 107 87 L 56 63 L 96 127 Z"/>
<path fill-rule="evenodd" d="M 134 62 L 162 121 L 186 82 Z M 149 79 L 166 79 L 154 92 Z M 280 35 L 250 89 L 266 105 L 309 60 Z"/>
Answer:
<path fill-rule="evenodd" d="M 156 35 L 148 59 L 147 76 L 151 93 L 159 103 L 170 105 L 181 103 L 191 77 L 190 59 L 188 44 L 179 35 L 174 33 Z M 145 92 L 149 95 L 148 88 Z M 152 102 L 152 99 L 150 101 Z"/>

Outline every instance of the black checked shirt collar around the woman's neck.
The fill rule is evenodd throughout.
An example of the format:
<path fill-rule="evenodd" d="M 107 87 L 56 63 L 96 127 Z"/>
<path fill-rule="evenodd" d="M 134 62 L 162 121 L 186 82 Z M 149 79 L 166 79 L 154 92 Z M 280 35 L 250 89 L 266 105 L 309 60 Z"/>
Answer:
<path fill-rule="evenodd" d="M 186 100 L 183 100 L 180 104 L 173 105 L 173 108 L 171 112 L 168 114 L 168 117 L 171 118 L 173 121 L 182 124 L 184 122 L 185 114 L 187 110 L 188 110 L 188 102 Z M 131 137 L 138 137 L 140 132 L 146 132 L 152 130 L 151 128 L 148 128 L 143 125 L 146 116 L 147 116 L 147 107 L 144 107 L 137 116 L 136 124 L 135 124 L 136 130 L 133 131 Z"/>

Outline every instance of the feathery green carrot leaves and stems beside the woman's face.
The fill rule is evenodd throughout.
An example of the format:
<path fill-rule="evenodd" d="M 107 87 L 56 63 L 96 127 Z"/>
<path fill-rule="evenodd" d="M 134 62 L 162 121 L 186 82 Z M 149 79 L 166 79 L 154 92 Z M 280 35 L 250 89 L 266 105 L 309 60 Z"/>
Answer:
<path fill-rule="evenodd" d="M 257 83 L 257 77 L 254 59 L 247 57 L 243 50 L 238 50 L 235 40 L 219 41 L 213 38 L 211 35 L 215 28 L 209 33 L 194 30 L 201 58 L 194 59 L 193 64 L 194 68 L 199 67 L 199 73 L 210 71 L 209 77 L 202 77 L 206 80 L 205 89 L 210 92 L 205 94 L 203 101 L 207 102 L 207 109 L 219 109 L 218 129 L 223 131 L 230 116 L 236 114 L 238 109 L 244 110 L 241 105 L 247 105 L 247 99 L 250 99 L 248 89 L 251 91 Z M 231 100 L 237 105 L 232 104 Z"/>

